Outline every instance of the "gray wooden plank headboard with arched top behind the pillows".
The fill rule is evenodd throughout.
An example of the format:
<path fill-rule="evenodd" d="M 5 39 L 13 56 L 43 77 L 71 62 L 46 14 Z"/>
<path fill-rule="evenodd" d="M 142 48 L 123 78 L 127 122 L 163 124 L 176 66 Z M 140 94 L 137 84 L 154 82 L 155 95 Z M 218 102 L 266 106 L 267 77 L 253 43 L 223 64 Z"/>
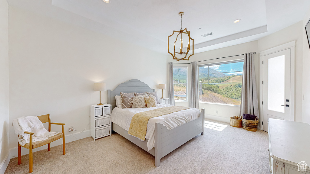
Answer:
<path fill-rule="evenodd" d="M 143 93 L 143 92 L 155 92 L 155 89 L 151 89 L 147 84 L 137 79 L 131 79 L 118 85 L 113 91 L 108 89 L 108 104 L 112 105 L 112 109 L 116 107 L 115 96 L 123 93 Z"/>

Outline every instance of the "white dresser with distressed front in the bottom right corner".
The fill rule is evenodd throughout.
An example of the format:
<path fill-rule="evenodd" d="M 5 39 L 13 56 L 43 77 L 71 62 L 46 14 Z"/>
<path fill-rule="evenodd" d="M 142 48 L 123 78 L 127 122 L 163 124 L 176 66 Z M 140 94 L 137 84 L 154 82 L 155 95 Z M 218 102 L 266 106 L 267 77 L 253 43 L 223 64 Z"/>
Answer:
<path fill-rule="evenodd" d="M 272 174 L 310 174 L 310 126 L 268 119 L 269 164 Z"/>

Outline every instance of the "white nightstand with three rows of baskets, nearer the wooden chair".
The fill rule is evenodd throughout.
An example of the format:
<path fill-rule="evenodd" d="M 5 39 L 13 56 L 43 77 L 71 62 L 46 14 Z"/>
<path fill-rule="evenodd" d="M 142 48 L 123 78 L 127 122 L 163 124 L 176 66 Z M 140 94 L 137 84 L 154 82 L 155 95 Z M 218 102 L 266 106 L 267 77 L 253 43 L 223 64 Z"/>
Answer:
<path fill-rule="evenodd" d="M 91 105 L 91 137 L 96 139 L 112 135 L 111 105 Z"/>

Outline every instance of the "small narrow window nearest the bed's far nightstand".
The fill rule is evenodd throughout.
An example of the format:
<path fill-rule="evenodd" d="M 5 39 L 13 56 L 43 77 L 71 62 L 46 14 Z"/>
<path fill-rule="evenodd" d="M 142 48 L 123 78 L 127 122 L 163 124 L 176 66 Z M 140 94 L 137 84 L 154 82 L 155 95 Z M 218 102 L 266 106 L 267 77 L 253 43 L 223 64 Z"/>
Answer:
<path fill-rule="evenodd" d="M 175 101 L 186 101 L 187 67 L 173 67 Z"/>

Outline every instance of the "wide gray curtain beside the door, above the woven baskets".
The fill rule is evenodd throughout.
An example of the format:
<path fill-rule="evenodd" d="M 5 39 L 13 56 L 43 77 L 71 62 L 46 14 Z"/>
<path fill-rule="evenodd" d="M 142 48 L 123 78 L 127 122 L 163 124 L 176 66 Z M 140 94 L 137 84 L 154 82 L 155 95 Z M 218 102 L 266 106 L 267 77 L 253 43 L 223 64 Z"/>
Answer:
<path fill-rule="evenodd" d="M 241 87 L 240 116 L 242 116 L 242 114 L 252 114 L 259 118 L 258 111 L 254 53 L 245 53 Z"/>

